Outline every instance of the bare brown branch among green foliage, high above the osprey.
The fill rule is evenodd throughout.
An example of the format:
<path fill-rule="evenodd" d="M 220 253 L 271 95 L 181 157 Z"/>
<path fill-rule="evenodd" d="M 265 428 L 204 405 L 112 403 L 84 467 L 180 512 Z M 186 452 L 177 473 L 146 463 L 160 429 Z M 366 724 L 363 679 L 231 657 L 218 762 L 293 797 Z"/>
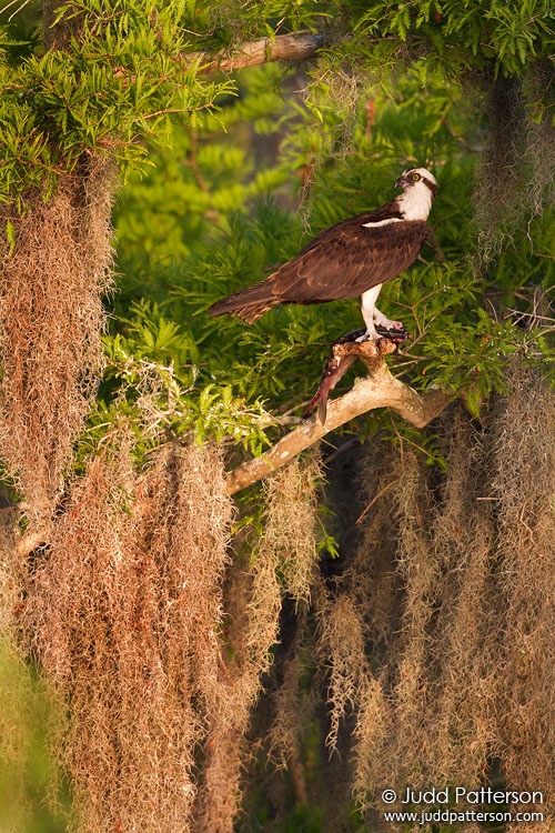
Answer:
<path fill-rule="evenodd" d="M 230 52 L 188 52 L 183 54 L 186 63 L 199 62 L 199 74 L 211 72 L 233 72 L 244 67 L 255 67 L 266 61 L 305 61 L 313 58 L 324 44 L 323 34 L 309 31 L 278 34 L 273 40 L 260 38 L 250 43 L 242 43 Z"/>

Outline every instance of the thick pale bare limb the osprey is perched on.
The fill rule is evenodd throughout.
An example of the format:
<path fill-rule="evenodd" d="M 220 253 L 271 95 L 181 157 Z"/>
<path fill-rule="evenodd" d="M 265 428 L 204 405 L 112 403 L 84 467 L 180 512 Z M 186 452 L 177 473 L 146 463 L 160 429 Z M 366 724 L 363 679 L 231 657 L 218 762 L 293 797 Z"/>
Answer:
<path fill-rule="evenodd" d="M 354 385 L 349 393 L 330 402 L 325 424 L 316 416 L 283 436 L 262 456 L 248 460 L 228 475 L 228 494 L 256 483 L 271 472 L 287 463 L 304 449 L 313 445 L 330 431 L 375 408 L 391 408 L 416 428 L 424 428 L 448 404 L 443 391 L 434 390 L 420 394 L 390 372 L 382 359 L 367 378 Z"/>

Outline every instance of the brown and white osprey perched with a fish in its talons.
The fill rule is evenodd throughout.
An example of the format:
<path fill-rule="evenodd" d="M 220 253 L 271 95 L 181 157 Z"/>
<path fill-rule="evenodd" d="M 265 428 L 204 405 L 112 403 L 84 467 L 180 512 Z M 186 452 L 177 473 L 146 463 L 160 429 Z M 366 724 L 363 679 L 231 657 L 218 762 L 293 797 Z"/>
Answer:
<path fill-rule="evenodd" d="M 360 297 L 366 325 L 362 339 L 376 339 L 376 327 L 401 330 L 401 322 L 380 312 L 376 299 L 382 285 L 404 272 L 424 245 L 437 182 L 425 168 L 410 168 L 395 188 L 403 193 L 322 231 L 270 278 L 216 301 L 209 313 L 234 313 L 252 324 L 279 303 Z"/>

